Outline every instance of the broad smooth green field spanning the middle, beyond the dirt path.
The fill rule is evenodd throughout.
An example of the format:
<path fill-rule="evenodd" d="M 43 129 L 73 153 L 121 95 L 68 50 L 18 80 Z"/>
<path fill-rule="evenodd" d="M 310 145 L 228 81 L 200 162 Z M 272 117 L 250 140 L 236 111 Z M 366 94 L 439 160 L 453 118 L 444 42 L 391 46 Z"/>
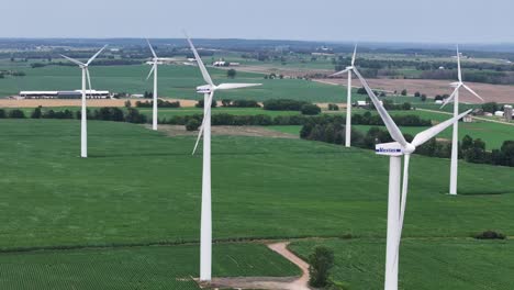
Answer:
<path fill-rule="evenodd" d="M 194 137 L 89 122 L 90 158 L 80 159 L 78 121 L 1 122 L 8 137 L 0 141 L 0 212 L 9 219 L 0 224 L 0 247 L 198 241 L 201 156 L 190 155 Z M 214 136 L 212 152 L 215 239 L 384 234 L 388 159 L 371 150 Z M 442 168 L 449 160 L 413 158 L 406 235 L 514 232 L 514 196 L 506 194 L 514 192 L 513 168 L 461 163 L 463 196 L 457 198 L 444 194 L 448 171 Z M 349 180 L 366 186 L 345 190 Z M 491 209 L 502 219 L 491 219 Z"/>

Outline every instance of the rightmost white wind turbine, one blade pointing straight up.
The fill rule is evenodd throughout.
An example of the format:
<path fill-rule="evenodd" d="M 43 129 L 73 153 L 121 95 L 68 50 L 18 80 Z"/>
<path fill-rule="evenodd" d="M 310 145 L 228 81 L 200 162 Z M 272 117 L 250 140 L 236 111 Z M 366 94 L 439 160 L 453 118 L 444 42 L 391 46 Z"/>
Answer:
<path fill-rule="evenodd" d="M 449 98 L 445 100 L 443 103 L 443 107 L 445 107 L 448 102 L 454 100 L 454 116 L 459 114 L 459 90 L 460 88 L 465 88 L 469 92 L 471 92 L 474 97 L 479 98 L 480 100 L 483 101 L 483 99 L 474 92 L 470 87 L 466 86 L 466 83 L 462 82 L 462 71 L 460 69 L 460 53 L 459 53 L 459 46 L 457 46 L 457 69 L 458 69 L 458 81 L 450 83 L 451 87 L 455 88 L 454 92 Z M 443 108 L 440 107 L 440 108 Z M 458 170 L 458 159 L 459 159 L 459 153 L 458 153 L 458 140 L 459 140 L 459 124 L 456 122 L 454 124 L 454 134 L 451 137 L 451 166 L 450 166 L 450 188 L 449 188 L 449 193 L 455 196 L 457 194 L 457 170 Z"/>

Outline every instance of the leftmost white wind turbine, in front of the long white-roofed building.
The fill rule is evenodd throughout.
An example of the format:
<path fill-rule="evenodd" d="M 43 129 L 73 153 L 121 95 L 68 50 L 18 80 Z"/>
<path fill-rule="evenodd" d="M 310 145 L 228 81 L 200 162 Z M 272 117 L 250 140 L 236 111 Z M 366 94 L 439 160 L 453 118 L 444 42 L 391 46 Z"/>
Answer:
<path fill-rule="evenodd" d="M 75 58 L 67 57 L 66 55 L 60 55 L 62 57 L 68 59 L 69 62 L 78 65 L 82 70 L 82 110 L 81 110 L 81 122 L 80 122 L 80 157 L 88 157 L 88 124 L 87 124 L 87 109 L 86 109 L 86 78 L 88 79 L 89 93 L 91 93 L 91 78 L 89 77 L 89 65 L 99 56 L 103 49 L 104 45 L 98 53 L 96 53 L 85 64 Z"/>

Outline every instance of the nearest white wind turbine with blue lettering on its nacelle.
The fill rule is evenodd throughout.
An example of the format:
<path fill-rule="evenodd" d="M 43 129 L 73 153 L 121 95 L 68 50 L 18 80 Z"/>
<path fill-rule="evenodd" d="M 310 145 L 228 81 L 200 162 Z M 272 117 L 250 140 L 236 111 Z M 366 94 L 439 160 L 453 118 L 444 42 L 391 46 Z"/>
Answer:
<path fill-rule="evenodd" d="M 377 111 L 380 114 L 383 123 L 386 124 L 389 134 L 394 140 L 391 143 L 377 144 L 376 153 L 379 155 L 390 156 L 389 164 L 389 199 L 388 199 L 388 234 L 387 234 L 387 254 L 386 254 L 386 290 L 398 290 L 398 266 L 400 241 L 403 228 L 403 217 L 405 213 L 407 185 L 409 185 L 409 161 L 411 154 L 413 154 L 417 146 L 424 144 L 428 140 L 435 137 L 442 131 L 458 122 L 459 119 L 468 114 L 471 110 L 442 122 L 428 130 L 418 133 L 414 140 L 409 143 L 403 136 L 400 129 L 396 126 L 392 118 L 388 114 L 383 105 L 380 103 L 377 96 L 375 96 L 367 81 L 362 78 L 360 72 L 354 68 L 354 72 L 360 79 L 360 82 L 368 92 L 371 101 L 373 102 Z M 400 181 L 403 161 L 403 185 L 400 197 Z"/>

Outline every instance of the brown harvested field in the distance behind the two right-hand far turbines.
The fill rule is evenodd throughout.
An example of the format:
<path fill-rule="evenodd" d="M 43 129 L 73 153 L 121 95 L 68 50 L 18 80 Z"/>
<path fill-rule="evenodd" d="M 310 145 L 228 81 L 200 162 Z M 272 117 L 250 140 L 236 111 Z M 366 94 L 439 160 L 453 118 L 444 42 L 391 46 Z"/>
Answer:
<path fill-rule="evenodd" d="M 428 97 L 436 94 L 451 93 L 452 88 L 449 87 L 450 80 L 433 80 L 433 79 L 367 79 L 369 86 L 373 89 L 386 91 L 401 91 L 406 89 L 409 93 L 420 91 Z M 328 85 L 345 85 L 346 79 L 315 79 L 315 81 Z M 359 86 L 358 79 L 354 80 L 355 86 Z M 488 102 L 514 103 L 514 86 L 490 85 L 467 82 L 477 93 L 479 93 Z M 471 93 L 461 90 L 461 101 L 469 103 L 480 103 L 481 101 Z"/>

